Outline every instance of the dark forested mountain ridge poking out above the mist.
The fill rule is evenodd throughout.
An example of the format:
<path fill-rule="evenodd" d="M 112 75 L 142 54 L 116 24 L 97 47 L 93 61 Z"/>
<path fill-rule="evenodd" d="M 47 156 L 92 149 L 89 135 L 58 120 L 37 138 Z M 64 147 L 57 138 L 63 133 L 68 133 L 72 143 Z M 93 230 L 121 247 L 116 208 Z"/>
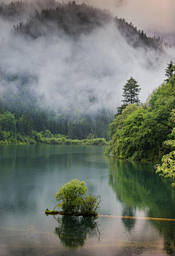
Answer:
<path fill-rule="evenodd" d="M 23 15 L 26 9 L 26 2 L 12 2 L 5 7 L 1 5 L 1 15 L 9 17 L 9 15 Z M 33 38 L 39 36 L 50 36 L 50 34 L 61 34 L 64 32 L 69 36 L 77 36 L 81 34 L 89 34 L 94 29 L 105 26 L 114 22 L 122 36 L 133 47 L 152 47 L 156 50 L 163 50 L 163 44 L 168 46 L 167 42 L 160 41 L 160 37 L 156 38 L 147 36 L 144 31 L 137 29 L 132 23 L 128 23 L 122 18 L 113 18 L 109 10 L 101 10 L 88 6 L 87 4 L 76 4 L 70 1 L 69 4 L 60 4 L 55 1 L 37 2 L 38 9 L 31 4 L 30 9 L 33 15 L 30 15 L 26 22 L 21 21 L 14 24 L 14 34 L 26 34 Z M 42 9 L 42 5 L 43 8 Z"/>

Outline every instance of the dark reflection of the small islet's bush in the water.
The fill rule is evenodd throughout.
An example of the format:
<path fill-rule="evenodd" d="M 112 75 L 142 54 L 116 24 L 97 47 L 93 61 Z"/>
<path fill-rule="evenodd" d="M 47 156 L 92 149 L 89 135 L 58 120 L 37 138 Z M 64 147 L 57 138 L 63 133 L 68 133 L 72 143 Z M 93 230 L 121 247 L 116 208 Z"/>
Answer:
<path fill-rule="evenodd" d="M 94 217 L 62 216 L 54 218 L 59 224 L 54 233 L 60 238 L 64 247 L 75 249 L 82 247 L 86 238 L 100 239 L 98 222 Z"/>

